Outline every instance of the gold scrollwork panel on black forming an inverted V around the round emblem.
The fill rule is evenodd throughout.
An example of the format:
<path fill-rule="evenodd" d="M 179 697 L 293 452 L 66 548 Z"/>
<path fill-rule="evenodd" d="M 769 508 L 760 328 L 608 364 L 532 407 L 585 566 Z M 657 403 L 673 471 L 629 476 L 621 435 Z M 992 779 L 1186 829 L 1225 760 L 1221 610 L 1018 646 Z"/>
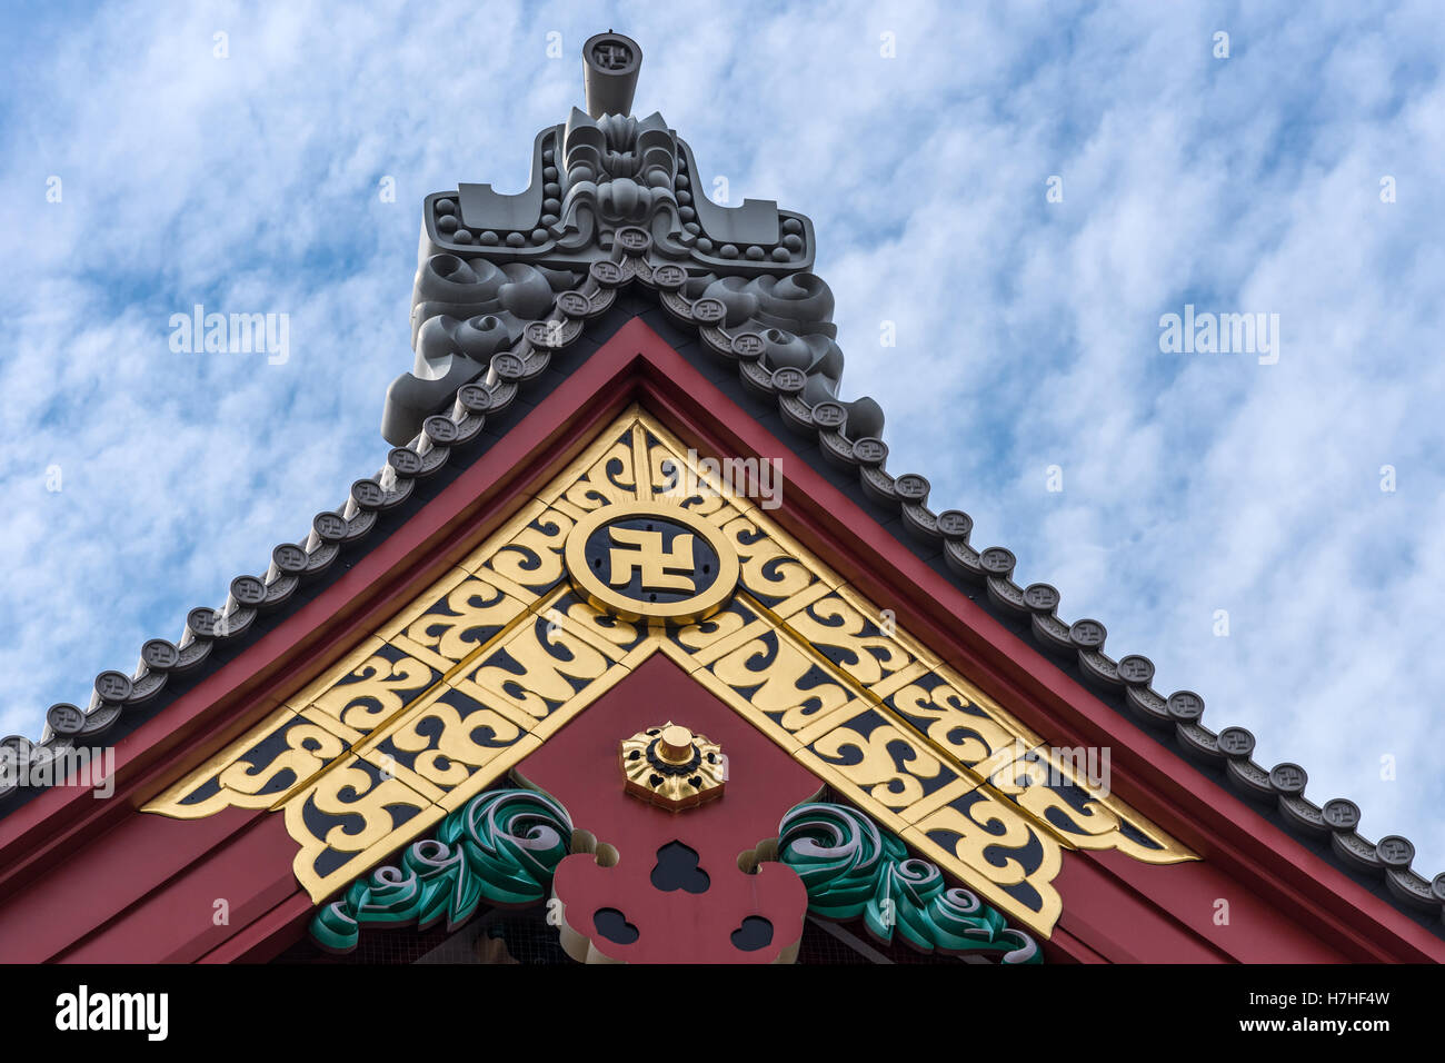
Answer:
<path fill-rule="evenodd" d="M 1043 936 L 1059 913 L 1051 881 L 1064 849 L 1194 859 L 695 457 L 629 411 L 457 568 L 146 810 L 283 810 L 301 846 L 296 876 L 321 901 L 662 652 Z M 679 470 L 691 493 L 675 490 Z M 600 511 L 643 500 L 699 534 L 715 529 L 714 550 L 736 552 L 736 587 L 717 612 L 696 613 L 705 619 L 627 619 L 569 579 L 572 529 L 590 535 L 608 519 Z"/>

